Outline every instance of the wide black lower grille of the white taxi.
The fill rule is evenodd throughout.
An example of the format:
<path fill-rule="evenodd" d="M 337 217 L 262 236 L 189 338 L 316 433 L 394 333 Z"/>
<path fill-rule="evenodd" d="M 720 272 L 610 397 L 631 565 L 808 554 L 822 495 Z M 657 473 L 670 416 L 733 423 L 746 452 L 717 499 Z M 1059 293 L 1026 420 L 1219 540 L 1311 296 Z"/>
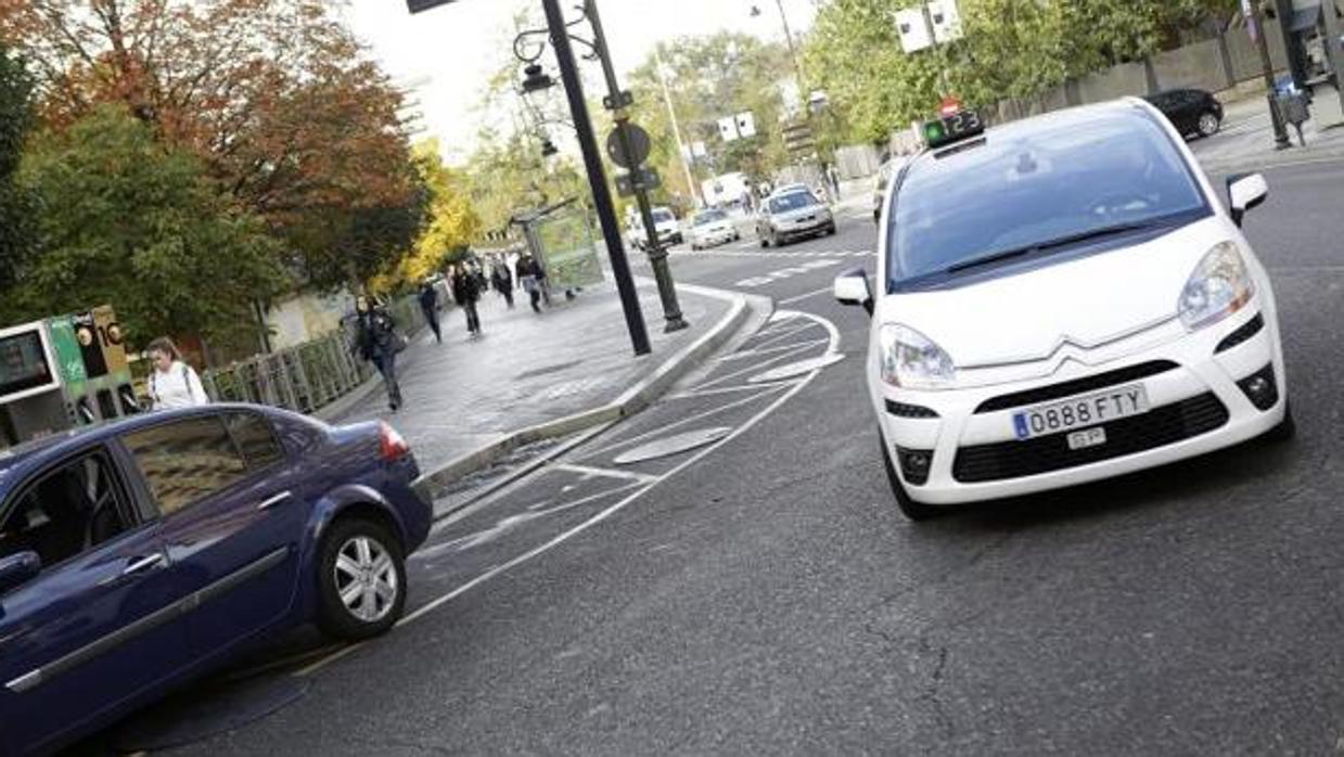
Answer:
<path fill-rule="evenodd" d="M 952 476 L 970 484 L 1062 471 L 1193 438 L 1218 429 L 1227 417 L 1227 407 L 1218 397 L 1200 394 L 1142 415 L 1102 424 L 1106 442 L 1097 446 L 1068 449 L 1068 433 L 962 446 L 953 461 Z"/>

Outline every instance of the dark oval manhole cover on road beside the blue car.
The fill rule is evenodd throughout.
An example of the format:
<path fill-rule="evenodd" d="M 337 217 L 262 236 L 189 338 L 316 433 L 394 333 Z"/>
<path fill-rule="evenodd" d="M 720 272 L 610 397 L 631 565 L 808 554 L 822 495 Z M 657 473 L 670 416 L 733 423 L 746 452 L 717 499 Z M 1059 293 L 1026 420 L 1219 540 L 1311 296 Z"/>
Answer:
<path fill-rule="evenodd" d="M 117 752 L 159 752 L 204 741 L 297 702 L 312 680 L 293 675 L 199 684 L 128 719 L 113 741 Z"/>

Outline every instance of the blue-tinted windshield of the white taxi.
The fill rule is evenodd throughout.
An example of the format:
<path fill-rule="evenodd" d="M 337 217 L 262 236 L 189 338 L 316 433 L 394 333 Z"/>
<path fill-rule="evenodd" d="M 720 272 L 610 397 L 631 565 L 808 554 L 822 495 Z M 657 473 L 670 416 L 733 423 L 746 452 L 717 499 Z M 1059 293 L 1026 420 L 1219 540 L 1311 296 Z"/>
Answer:
<path fill-rule="evenodd" d="M 1008 125 L 925 153 L 894 202 L 888 290 L 1208 212 L 1176 145 L 1138 109 Z"/>

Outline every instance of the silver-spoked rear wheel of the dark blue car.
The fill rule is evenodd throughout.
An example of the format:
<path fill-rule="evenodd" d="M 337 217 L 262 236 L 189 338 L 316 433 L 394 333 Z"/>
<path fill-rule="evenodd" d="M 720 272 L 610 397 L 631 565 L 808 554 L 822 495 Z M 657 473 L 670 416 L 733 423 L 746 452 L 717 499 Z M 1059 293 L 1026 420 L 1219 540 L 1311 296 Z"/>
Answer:
<path fill-rule="evenodd" d="M 337 520 L 317 561 L 317 627 L 333 639 L 359 641 L 387 632 L 406 606 L 401 542 L 363 518 Z"/>

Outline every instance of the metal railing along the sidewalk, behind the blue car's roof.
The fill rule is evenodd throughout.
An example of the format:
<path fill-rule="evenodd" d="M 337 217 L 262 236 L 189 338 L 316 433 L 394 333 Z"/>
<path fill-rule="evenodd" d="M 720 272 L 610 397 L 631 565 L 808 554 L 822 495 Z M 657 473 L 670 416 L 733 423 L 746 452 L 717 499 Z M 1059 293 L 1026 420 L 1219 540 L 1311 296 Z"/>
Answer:
<path fill-rule="evenodd" d="M 392 303 L 391 312 L 409 335 L 425 325 L 414 297 Z M 314 413 L 376 372 L 372 363 L 351 354 L 349 344 L 348 329 L 340 328 L 278 352 L 208 370 L 200 381 L 215 402 L 250 402 Z"/>

